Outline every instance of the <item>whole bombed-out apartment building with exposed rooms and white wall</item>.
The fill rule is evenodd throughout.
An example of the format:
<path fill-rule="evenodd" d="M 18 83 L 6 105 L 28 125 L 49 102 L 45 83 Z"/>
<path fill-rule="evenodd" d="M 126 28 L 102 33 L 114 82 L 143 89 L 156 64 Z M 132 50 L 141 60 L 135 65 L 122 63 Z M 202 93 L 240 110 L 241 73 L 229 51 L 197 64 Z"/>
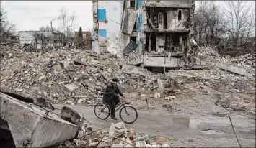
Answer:
<path fill-rule="evenodd" d="M 182 68 L 193 36 L 194 9 L 190 0 L 93 1 L 92 49 L 121 56 L 136 43 L 136 62 L 145 68 Z"/>

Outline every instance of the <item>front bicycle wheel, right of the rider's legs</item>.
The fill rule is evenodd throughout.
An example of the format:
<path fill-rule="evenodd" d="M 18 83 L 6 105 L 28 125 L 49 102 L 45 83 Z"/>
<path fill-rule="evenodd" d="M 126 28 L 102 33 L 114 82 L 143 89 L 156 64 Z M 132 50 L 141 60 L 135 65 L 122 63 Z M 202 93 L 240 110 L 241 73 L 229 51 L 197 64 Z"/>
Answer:
<path fill-rule="evenodd" d="M 120 110 L 120 119 L 127 124 L 132 124 L 138 118 L 138 113 L 133 106 L 124 106 Z"/>

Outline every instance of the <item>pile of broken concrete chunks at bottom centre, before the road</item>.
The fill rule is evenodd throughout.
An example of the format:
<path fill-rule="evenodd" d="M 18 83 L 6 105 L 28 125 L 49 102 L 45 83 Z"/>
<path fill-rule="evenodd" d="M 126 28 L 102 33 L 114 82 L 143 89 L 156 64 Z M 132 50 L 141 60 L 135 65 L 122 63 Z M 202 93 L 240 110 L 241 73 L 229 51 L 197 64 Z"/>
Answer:
<path fill-rule="evenodd" d="M 161 142 L 162 143 L 162 142 Z M 109 131 L 104 129 L 87 131 L 79 139 L 71 139 L 61 147 L 169 147 L 169 144 L 152 142 L 148 135 L 136 134 L 135 129 L 126 129 L 125 124 L 111 124 Z"/>

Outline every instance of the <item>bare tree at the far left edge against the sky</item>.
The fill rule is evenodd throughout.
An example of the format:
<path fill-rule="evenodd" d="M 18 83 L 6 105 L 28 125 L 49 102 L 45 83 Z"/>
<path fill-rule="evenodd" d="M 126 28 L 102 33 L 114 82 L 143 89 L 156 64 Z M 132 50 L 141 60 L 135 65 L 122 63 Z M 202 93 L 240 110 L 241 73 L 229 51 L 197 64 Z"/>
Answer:
<path fill-rule="evenodd" d="M 4 43 L 11 37 L 16 31 L 17 24 L 14 22 L 9 22 L 7 18 L 7 12 L 4 8 L 0 11 L 0 38 Z"/>

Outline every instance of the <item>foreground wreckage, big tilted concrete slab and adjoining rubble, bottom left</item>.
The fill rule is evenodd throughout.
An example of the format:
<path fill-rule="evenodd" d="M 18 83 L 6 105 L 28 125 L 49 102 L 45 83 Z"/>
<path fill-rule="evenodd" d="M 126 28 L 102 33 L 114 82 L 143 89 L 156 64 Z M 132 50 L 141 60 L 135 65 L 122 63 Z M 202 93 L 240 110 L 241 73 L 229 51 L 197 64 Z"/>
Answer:
<path fill-rule="evenodd" d="M 66 106 L 59 116 L 43 98 L 10 92 L 0 95 L 3 147 L 169 147 L 149 142 L 148 136 L 126 129 L 123 122 L 111 124 L 108 132 L 95 130 L 81 114 Z"/>

